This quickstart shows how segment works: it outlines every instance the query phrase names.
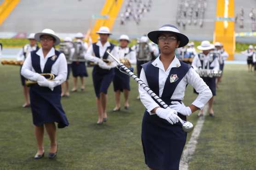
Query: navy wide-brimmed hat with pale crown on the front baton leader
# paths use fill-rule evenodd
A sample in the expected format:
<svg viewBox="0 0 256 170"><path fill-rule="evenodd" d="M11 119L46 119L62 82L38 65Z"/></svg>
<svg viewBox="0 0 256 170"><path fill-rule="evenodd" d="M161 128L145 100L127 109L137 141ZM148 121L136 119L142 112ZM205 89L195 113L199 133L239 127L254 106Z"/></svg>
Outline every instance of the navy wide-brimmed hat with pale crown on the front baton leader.
<svg viewBox="0 0 256 170"><path fill-rule="evenodd" d="M158 37L159 34L161 33L173 33L177 36L177 40L180 41L180 47L184 47L185 45L188 44L188 37L182 33L180 33L180 31L178 30L177 27L175 27L174 25L171 24L165 24L162 27L159 28L158 31L152 31L148 33L148 38L153 41L155 44L157 44L158 42Z"/></svg>

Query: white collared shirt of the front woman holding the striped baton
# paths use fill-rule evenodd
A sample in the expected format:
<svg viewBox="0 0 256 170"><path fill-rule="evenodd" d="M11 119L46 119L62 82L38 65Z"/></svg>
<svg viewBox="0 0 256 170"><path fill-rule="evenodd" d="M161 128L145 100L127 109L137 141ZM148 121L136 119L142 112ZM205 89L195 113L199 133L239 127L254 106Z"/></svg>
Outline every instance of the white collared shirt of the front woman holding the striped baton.
<svg viewBox="0 0 256 170"><path fill-rule="evenodd" d="M151 64L159 68L159 97L161 97L165 87L165 82L170 81L166 79L171 71L171 68L179 67L181 66L181 63L175 56L174 60L171 62L170 66L166 71L159 57L156 58ZM148 82L143 68L141 71L140 79L148 86ZM192 104L199 109L202 109L204 105L208 102L208 100L212 97L212 93L210 91L210 88L205 84L203 79L199 77L199 75L193 70L193 68L190 68L187 74L178 83L170 98L173 100L183 100L185 89L188 83L192 85L192 87L195 88L195 90L199 93L198 97L193 101ZM156 107L159 107L159 104L157 104L154 99L152 99L151 96L141 86L139 86L139 93L141 102L146 107L148 112Z"/></svg>

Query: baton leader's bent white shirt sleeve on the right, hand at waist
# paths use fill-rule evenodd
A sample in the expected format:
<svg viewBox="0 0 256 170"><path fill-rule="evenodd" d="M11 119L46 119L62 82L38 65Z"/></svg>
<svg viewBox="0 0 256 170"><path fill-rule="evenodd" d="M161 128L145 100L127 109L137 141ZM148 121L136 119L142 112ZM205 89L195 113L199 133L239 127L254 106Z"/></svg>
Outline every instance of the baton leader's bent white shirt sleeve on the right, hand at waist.
<svg viewBox="0 0 256 170"><path fill-rule="evenodd" d="M188 73L186 74L186 79L188 83L196 90L196 92L199 93L192 104L202 110L204 105L212 97L210 88L205 84L204 80L199 77L193 68L189 69Z"/></svg>

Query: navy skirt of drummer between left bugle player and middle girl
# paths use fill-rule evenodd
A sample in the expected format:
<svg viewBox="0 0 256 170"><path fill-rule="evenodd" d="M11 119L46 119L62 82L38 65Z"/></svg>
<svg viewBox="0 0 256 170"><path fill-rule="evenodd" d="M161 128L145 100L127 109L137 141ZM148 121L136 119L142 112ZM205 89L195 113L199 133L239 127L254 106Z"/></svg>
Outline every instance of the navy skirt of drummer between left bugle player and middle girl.
<svg viewBox="0 0 256 170"><path fill-rule="evenodd" d="M73 77L88 77L85 62L74 61L71 65Z"/></svg>

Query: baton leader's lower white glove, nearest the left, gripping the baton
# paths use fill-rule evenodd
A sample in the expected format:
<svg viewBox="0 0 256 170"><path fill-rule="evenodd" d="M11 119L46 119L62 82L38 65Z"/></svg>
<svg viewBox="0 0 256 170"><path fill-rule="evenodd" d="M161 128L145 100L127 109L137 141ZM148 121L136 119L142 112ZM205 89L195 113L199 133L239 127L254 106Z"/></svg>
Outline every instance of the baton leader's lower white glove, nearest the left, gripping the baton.
<svg viewBox="0 0 256 170"><path fill-rule="evenodd" d="M173 109L158 108L155 113L162 119L165 119L172 125L178 122L177 112Z"/></svg>

